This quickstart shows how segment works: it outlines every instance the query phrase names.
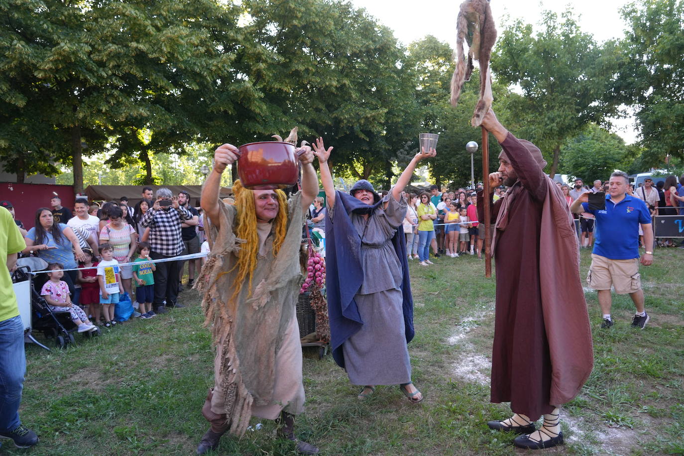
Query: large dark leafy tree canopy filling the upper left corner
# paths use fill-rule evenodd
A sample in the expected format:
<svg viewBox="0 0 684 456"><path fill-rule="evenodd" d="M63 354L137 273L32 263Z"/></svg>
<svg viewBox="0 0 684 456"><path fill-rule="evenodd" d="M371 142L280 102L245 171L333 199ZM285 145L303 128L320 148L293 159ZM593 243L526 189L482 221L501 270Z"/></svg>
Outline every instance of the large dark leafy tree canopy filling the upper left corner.
<svg viewBox="0 0 684 456"><path fill-rule="evenodd" d="M83 142L96 153L115 137L115 165L195 139L193 107L221 96L239 12L213 0L1 3L0 156L32 150L38 163L73 163L80 191ZM131 146L140 129L159 132L146 150Z"/></svg>

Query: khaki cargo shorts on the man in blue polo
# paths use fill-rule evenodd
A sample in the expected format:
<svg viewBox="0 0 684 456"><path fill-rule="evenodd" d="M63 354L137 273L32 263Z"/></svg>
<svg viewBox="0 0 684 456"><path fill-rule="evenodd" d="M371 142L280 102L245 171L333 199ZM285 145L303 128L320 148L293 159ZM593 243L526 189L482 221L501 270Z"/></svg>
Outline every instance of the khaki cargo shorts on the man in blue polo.
<svg viewBox="0 0 684 456"><path fill-rule="evenodd" d="M639 258L630 260L611 260L605 256L592 254L587 283L594 290L609 290L615 286L615 293L626 295L641 289Z"/></svg>

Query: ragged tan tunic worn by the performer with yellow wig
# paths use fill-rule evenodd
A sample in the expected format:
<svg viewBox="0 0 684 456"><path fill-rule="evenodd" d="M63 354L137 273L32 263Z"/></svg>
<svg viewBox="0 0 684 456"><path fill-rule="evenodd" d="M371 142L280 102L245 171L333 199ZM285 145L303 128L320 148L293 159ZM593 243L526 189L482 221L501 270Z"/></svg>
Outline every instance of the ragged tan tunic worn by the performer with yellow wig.
<svg viewBox="0 0 684 456"><path fill-rule="evenodd" d="M231 433L241 435L251 416L274 419L282 410L300 414L304 409L295 313L302 279L299 249L304 215L299 192L288 202L287 234L277 257L274 235L268 226L259 226L252 286L245 282L236 304L229 304L237 274L233 267L244 241L235 237L235 206L219 204L220 230L205 219L211 253L200 279L204 282L200 289L205 291L202 306L217 348L211 410L226 414Z"/></svg>

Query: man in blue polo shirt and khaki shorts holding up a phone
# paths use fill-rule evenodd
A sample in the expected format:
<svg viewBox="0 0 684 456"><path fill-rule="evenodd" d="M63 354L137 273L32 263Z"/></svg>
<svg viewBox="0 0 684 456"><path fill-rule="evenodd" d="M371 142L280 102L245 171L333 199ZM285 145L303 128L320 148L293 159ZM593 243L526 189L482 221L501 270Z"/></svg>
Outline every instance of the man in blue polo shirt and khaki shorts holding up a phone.
<svg viewBox="0 0 684 456"><path fill-rule="evenodd" d="M644 291L641 288L639 263L653 264L653 230L646 203L626 194L629 186L627 173L616 171L610 176L609 194L605 209L589 209L588 193L581 195L570 206L574 213L588 212L596 217L596 241L592 251L592 265L587 281L599 293L599 306L603 312L602 328L613 325L610 317L611 285L618 295L629 293L637 308L632 326L644 329L648 314L644 310ZM646 252L639 261L639 226L644 231Z"/></svg>

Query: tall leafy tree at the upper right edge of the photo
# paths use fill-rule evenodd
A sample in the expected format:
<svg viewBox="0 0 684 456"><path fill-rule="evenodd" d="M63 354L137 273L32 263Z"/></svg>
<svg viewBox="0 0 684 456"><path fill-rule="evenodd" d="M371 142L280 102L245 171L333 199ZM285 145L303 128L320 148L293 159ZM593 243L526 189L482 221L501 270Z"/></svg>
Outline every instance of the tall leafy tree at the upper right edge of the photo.
<svg viewBox="0 0 684 456"><path fill-rule="evenodd" d="M642 0L622 16L628 28L615 91L637 109L642 161L657 167L666 155L684 158L684 4Z"/></svg>

